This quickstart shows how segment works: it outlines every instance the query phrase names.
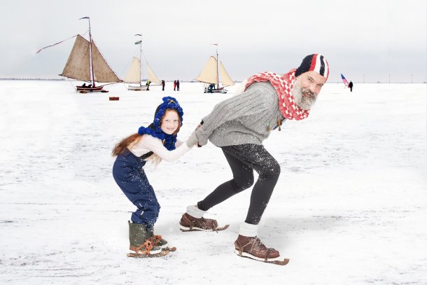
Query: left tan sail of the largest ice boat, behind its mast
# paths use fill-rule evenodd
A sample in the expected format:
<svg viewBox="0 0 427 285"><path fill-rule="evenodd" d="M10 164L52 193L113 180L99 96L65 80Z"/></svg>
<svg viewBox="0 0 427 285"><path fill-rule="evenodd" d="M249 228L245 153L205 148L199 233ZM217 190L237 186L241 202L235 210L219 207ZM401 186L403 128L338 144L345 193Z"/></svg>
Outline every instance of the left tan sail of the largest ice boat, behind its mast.
<svg viewBox="0 0 427 285"><path fill-rule="evenodd" d="M90 81L89 41L83 36L77 35L64 70L59 75L79 81Z"/></svg>

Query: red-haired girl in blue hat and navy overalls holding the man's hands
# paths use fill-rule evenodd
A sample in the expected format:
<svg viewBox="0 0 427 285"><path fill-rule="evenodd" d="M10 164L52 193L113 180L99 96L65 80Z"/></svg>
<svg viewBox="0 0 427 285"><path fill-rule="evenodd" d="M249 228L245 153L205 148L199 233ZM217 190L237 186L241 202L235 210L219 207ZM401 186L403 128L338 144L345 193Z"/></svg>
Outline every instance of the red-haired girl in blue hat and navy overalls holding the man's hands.
<svg viewBox="0 0 427 285"><path fill-rule="evenodd" d="M116 144L113 156L113 177L126 197L137 206L129 221L130 250L142 254L159 253L167 247L167 241L160 235L153 235L160 204L153 187L148 182L144 165L151 160L156 165L161 160L178 160L192 148L197 137L191 134L186 144L176 141L176 134L183 121L183 109L174 97L163 97L163 103L155 110L154 121L148 127L139 127L132 134Z"/></svg>

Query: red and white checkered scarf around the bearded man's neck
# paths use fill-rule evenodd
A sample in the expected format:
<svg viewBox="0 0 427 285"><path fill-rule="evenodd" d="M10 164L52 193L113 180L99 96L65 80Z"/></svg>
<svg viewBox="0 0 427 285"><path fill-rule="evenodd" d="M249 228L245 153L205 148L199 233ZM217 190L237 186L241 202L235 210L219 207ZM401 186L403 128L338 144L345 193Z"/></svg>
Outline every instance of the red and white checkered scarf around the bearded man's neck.
<svg viewBox="0 0 427 285"><path fill-rule="evenodd" d="M277 97L279 97L279 109L284 118L289 120L302 120L309 116L309 110L300 109L294 101L292 95L293 83L295 83L295 71L291 69L287 74L279 76L273 72L262 72L248 78L248 83L245 90L254 82L269 81L276 89Z"/></svg>

